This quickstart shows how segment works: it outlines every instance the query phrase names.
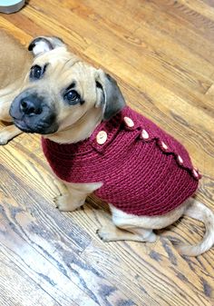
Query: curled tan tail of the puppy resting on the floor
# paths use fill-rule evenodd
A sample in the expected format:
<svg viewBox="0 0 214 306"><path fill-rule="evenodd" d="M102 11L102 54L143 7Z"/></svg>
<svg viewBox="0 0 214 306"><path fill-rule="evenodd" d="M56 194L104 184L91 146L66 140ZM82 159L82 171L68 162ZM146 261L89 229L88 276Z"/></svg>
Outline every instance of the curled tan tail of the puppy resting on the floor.
<svg viewBox="0 0 214 306"><path fill-rule="evenodd" d="M198 256L207 252L214 245L214 213L203 203L193 200L184 214L203 222L206 232L199 243L195 245L180 244L177 246L178 251L181 255L188 256Z"/></svg>

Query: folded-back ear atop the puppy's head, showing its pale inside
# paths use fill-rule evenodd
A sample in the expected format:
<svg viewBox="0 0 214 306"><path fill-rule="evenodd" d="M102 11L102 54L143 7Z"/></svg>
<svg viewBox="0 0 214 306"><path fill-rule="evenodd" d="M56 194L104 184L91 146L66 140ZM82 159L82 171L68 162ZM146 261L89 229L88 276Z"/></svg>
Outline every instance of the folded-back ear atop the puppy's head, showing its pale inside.
<svg viewBox="0 0 214 306"><path fill-rule="evenodd" d="M34 40L29 44L28 50L31 51L34 56L38 56L62 46L65 46L65 44L61 38L39 36L34 38Z"/></svg>

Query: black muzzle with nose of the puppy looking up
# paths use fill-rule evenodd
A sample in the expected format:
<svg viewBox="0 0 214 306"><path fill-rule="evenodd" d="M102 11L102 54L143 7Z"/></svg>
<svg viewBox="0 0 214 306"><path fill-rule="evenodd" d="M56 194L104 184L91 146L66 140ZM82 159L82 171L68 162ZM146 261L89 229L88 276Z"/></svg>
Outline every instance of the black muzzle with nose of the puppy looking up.
<svg viewBox="0 0 214 306"><path fill-rule="evenodd" d="M58 130L56 114L42 95L29 90L19 94L10 107L15 125L25 133L55 133Z"/></svg>

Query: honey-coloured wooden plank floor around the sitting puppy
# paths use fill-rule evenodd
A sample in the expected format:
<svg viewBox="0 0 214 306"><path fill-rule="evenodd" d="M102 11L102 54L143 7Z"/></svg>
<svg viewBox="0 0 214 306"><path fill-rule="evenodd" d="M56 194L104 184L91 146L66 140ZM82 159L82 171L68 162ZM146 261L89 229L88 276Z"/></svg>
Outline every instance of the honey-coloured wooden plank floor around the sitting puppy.
<svg viewBox="0 0 214 306"><path fill-rule="evenodd" d="M0 26L26 45L60 36L114 75L128 104L189 149L214 209L213 0L30 0ZM108 209L55 209L36 135L0 148L0 180L0 306L214 305L214 250L182 258L169 240L198 242L201 223L183 218L153 244L100 241Z"/></svg>

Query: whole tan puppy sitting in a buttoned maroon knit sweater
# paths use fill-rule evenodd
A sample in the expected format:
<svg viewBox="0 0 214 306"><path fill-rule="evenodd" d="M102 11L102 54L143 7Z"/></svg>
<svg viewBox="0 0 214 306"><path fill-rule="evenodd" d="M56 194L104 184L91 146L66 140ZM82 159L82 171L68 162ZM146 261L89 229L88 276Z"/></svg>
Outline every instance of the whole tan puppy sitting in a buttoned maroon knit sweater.
<svg viewBox="0 0 214 306"><path fill-rule="evenodd" d="M83 63L60 39L38 37L29 50L34 64L10 114L22 131L43 135L44 155L67 186L58 208L74 211L92 192L109 202L115 226L98 231L105 242L154 242L153 230L186 214L207 231L198 244L180 245L180 253L208 251L214 215L190 197L200 174L184 147L131 110L112 77Z"/></svg>

